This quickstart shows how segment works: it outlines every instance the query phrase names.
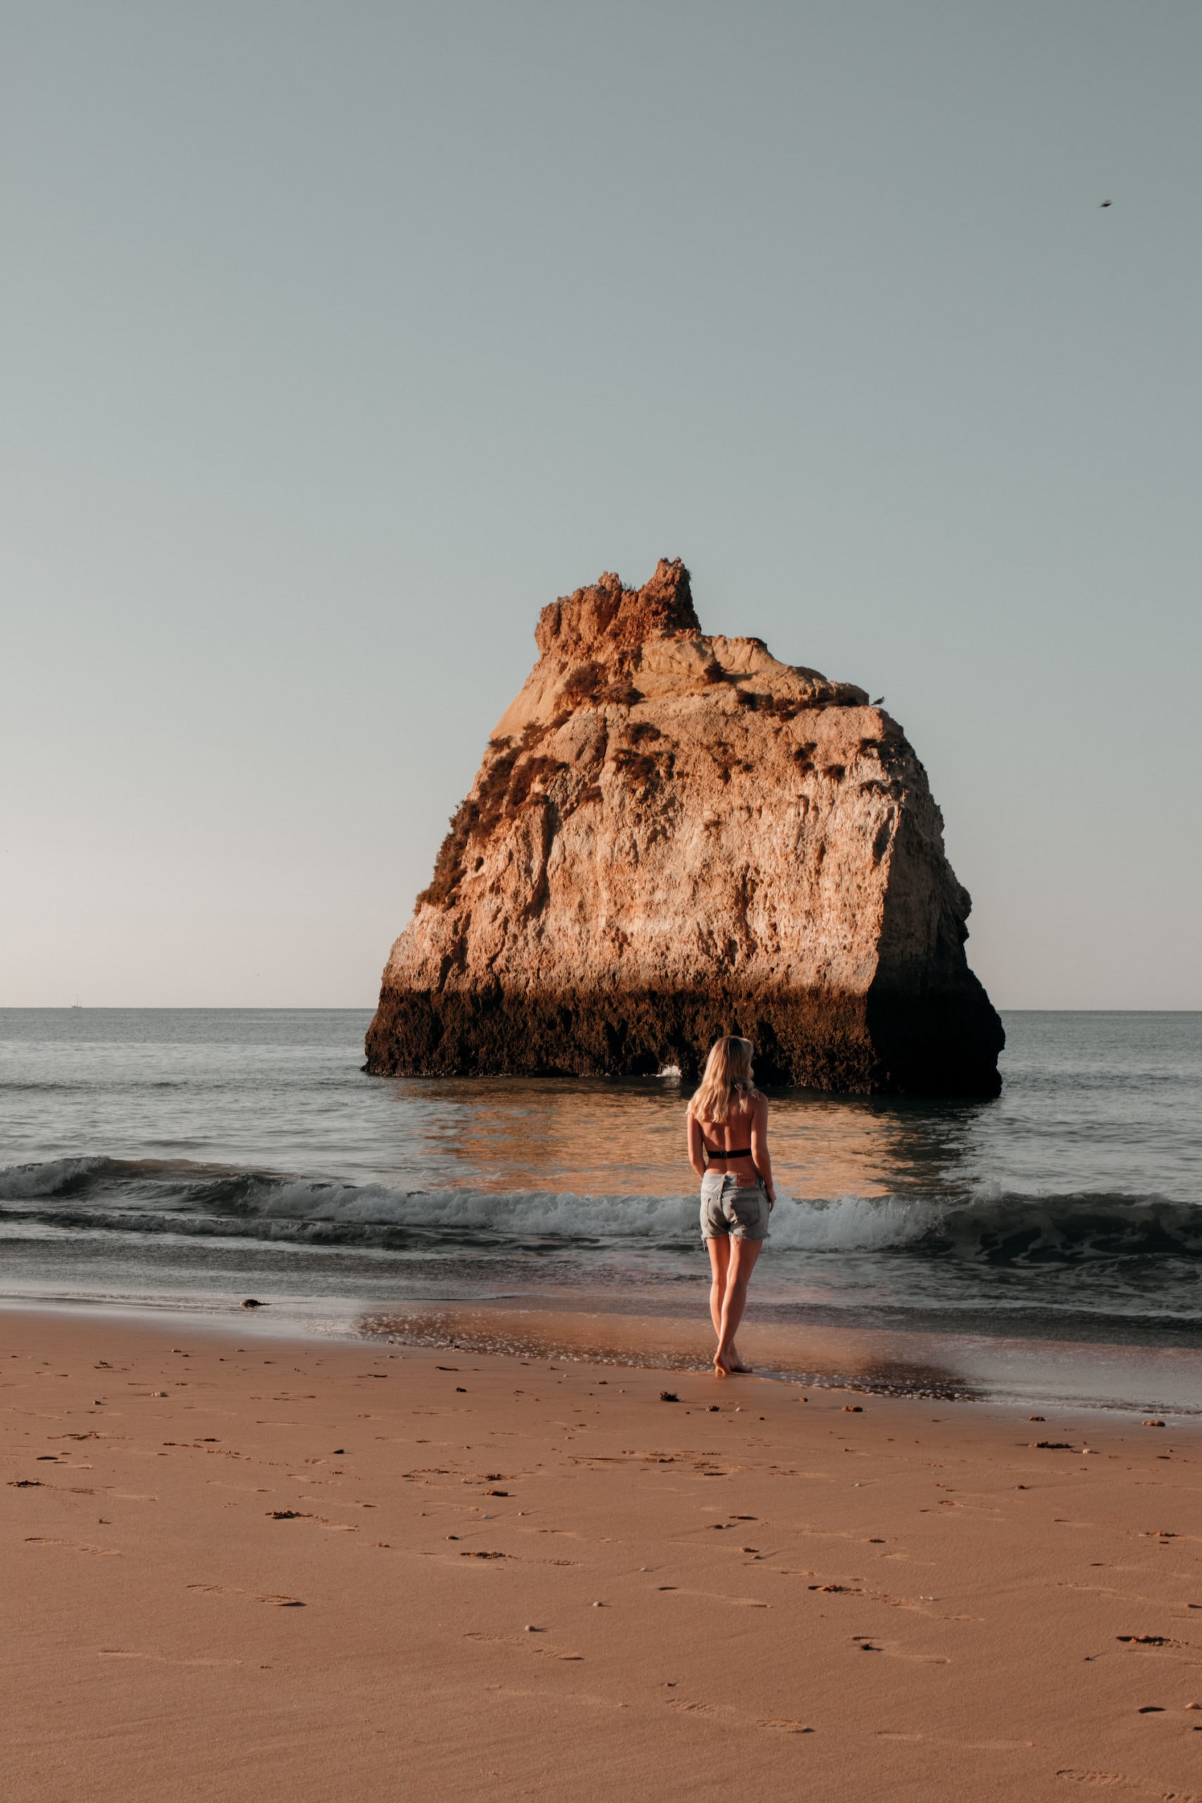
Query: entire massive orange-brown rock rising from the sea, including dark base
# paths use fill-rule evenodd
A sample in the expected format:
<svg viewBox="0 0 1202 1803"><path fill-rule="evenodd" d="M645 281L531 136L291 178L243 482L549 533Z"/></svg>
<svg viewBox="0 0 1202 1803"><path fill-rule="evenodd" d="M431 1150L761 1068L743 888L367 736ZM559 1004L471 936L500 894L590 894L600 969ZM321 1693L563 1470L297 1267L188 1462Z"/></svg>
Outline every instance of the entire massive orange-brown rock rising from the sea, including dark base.
<svg viewBox="0 0 1202 1803"><path fill-rule="evenodd" d="M995 1094L926 772L863 689L701 631L688 572L544 608L384 970L368 1069Z"/></svg>

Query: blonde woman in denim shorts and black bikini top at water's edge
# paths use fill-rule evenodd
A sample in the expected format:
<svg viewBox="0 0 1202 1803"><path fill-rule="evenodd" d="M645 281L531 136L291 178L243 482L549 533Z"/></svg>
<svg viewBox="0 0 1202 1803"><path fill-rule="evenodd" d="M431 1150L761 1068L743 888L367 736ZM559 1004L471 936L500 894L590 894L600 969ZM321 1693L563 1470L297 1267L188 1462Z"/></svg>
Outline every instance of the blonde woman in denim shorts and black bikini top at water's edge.
<svg viewBox="0 0 1202 1803"><path fill-rule="evenodd" d="M706 1163L708 1159L708 1163ZM750 1370L735 1350L748 1280L777 1206L768 1158L768 1098L751 1080L751 1040L719 1039L688 1103L688 1163L701 1177L701 1237L710 1251L714 1370Z"/></svg>

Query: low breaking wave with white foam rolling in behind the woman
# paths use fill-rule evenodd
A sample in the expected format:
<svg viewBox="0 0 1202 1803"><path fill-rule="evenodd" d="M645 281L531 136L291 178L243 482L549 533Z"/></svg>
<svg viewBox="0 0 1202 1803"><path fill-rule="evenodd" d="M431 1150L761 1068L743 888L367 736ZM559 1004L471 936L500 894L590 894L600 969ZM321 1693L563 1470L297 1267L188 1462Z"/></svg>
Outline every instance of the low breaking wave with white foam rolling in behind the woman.
<svg viewBox="0 0 1202 1803"><path fill-rule="evenodd" d="M7 1204L7 1206L4 1206ZM577 1195L555 1190L393 1190L317 1177L202 1167L182 1159L70 1158L0 1170L9 1224L59 1230L229 1235L269 1242L395 1246L696 1244L687 1195ZM1015 1192L961 1197L782 1197L779 1251L908 1253L988 1264L1202 1260L1202 1208L1161 1195Z"/></svg>

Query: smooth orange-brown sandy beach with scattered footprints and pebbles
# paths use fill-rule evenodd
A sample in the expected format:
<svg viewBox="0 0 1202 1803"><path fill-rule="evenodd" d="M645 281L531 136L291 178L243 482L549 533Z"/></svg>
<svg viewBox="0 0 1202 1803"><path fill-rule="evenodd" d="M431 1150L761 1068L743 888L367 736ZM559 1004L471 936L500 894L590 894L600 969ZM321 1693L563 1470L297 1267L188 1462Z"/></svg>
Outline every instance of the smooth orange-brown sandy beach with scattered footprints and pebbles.
<svg viewBox="0 0 1202 1803"><path fill-rule="evenodd" d="M14 1803L1202 1794L1191 1430L63 1314L0 1350Z"/></svg>

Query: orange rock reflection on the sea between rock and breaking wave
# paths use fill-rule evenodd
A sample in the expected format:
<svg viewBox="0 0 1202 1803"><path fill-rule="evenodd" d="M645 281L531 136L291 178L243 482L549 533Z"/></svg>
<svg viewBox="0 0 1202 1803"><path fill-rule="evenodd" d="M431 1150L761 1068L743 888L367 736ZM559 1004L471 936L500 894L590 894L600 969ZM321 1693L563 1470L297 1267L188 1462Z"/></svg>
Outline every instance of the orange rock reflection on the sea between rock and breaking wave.
<svg viewBox="0 0 1202 1803"><path fill-rule="evenodd" d="M463 1078L395 1085L438 1188L678 1195L696 1179L685 1154L688 1089L674 1078L508 1082ZM798 1199L946 1194L989 1103L926 1103L784 1091L771 1098L771 1156Z"/></svg>

